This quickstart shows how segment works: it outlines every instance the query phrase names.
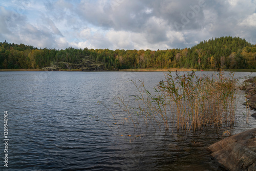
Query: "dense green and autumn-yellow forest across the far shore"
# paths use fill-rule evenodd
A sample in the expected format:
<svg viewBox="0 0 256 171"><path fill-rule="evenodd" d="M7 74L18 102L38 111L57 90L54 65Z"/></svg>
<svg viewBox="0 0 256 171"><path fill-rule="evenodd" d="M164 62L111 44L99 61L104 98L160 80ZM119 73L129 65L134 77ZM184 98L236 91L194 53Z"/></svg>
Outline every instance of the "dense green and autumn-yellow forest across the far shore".
<svg viewBox="0 0 256 171"><path fill-rule="evenodd" d="M118 70L136 68L256 69L256 45L239 37L202 41L185 49L38 49L0 42L0 69Z"/></svg>

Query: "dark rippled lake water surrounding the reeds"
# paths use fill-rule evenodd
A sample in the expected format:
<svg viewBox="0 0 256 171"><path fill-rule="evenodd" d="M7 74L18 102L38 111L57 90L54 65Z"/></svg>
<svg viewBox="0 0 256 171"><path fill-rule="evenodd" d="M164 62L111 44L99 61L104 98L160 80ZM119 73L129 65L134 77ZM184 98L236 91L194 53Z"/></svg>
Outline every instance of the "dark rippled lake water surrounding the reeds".
<svg viewBox="0 0 256 171"><path fill-rule="evenodd" d="M236 73L248 75L256 73ZM97 101L115 108L114 96L133 100L136 88L130 79L143 80L152 89L164 80L164 73L0 72L3 136L8 111L8 170L224 170L206 147L223 139L227 130L233 135L256 127L252 117L246 124L240 93L232 129L178 134L132 126L111 130L102 121L111 122L112 115ZM2 143L4 161L3 149ZM6 169L3 161L1 170Z"/></svg>

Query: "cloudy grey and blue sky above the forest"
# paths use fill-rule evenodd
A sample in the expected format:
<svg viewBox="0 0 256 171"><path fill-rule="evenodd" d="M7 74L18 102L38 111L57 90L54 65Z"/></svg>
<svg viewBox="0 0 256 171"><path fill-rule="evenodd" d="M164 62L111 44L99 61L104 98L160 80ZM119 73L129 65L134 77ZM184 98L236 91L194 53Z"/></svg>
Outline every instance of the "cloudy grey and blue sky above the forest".
<svg viewBox="0 0 256 171"><path fill-rule="evenodd" d="M0 0L0 41L37 48L189 48L222 36L256 44L256 0Z"/></svg>

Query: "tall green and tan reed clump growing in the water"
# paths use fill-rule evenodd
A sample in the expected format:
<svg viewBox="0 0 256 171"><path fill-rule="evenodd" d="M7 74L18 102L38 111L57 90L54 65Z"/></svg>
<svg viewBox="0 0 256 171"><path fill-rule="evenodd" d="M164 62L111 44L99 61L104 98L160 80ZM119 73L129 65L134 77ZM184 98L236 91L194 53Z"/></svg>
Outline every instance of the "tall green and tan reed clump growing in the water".
<svg viewBox="0 0 256 171"><path fill-rule="evenodd" d="M158 87L151 93L144 82L131 80L138 90L133 107L129 107L123 98L115 97L116 104L122 108L121 117L112 115L122 122L132 123L137 128L153 126L163 127L165 131L196 131L207 126L220 127L235 122L236 94L238 80L234 75L217 75L198 77L195 72L180 75L171 72L165 75Z"/></svg>

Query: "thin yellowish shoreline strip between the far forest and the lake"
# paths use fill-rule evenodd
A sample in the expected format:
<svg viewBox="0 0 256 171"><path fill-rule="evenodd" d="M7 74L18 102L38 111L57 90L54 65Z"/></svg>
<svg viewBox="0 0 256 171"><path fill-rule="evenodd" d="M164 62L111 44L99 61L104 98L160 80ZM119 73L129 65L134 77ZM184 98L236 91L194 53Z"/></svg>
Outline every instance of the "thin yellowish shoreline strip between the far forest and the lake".
<svg viewBox="0 0 256 171"><path fill-rule="evenodd" d="M0 69L0 72L4 71L46 71L43 69ZM82 71L81 69L60 69L57 71ZM180 69L180 68L170 68L170 69L123 69L123 70L99 70L99 71L133 71L133 72L175 72L175 71L200 71L197 69ZM202 71L217 71L217 70L202 70ZM233 71L233 72L256 72L256 70L224 70L224 71ZM84 71L90 72L90 71Z"/></svg>

